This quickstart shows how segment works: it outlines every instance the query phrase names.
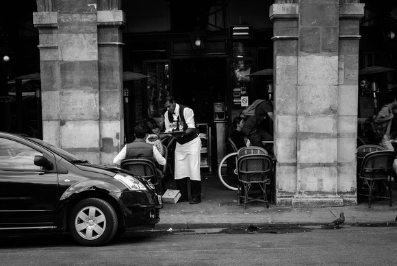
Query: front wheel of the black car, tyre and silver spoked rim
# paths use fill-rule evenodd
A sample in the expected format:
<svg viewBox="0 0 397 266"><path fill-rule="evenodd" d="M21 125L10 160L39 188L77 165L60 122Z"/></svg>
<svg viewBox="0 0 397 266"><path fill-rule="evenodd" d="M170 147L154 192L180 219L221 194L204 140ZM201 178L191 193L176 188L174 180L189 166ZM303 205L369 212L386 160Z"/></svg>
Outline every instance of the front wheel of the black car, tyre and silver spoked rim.
<svg viewBox="0 0 397 266"><path fill-rule="evenodd" d="M118 217L105 200L83 199L76 204L68 217L73 239L80 245L105 245L117 232Z"/></svg>

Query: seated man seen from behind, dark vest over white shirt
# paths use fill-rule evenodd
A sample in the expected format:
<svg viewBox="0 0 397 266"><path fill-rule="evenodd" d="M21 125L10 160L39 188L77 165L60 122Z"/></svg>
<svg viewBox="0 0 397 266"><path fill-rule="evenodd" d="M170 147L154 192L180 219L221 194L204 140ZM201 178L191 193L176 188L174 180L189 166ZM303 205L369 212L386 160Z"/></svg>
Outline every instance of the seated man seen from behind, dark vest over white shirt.
<svg viewBox="0 0 397 266"><path fill-rule="evenodd" d="M159 153L157 147L153 144L146 143L147 137L146 125L140 123L133 128L135 141L127 143L120 153L114 157L114 165L120 167L120 163L125 159L146 159L157 162L159 165L166 165L166 159ZM163 177L162 171L157 169L160 178Z"/></svg>

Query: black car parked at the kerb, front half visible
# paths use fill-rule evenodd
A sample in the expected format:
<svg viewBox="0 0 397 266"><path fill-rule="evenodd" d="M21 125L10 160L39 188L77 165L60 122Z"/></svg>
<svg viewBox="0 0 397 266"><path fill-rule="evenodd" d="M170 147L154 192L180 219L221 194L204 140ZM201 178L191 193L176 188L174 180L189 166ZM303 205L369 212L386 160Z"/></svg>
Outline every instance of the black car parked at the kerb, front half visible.
<svg viewBox="0 0 397 266"><path fill-rule="evenodd" d="M153 228L159 208L143 178L0 132L0 235L70 232L81 245L104 245L127 228Z"/></svg>

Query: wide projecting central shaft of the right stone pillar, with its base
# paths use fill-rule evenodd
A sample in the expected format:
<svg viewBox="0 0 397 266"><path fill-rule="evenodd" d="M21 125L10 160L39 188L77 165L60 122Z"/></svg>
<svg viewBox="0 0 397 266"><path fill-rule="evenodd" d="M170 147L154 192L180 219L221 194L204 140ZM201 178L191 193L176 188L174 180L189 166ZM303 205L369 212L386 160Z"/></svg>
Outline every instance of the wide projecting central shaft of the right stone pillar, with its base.
<svg viewBox="0 0 397 266"><path fill-rule="evenodd" d="M292 206L343 206L337 195L339 0L299 2L297 188Z"/></svg>

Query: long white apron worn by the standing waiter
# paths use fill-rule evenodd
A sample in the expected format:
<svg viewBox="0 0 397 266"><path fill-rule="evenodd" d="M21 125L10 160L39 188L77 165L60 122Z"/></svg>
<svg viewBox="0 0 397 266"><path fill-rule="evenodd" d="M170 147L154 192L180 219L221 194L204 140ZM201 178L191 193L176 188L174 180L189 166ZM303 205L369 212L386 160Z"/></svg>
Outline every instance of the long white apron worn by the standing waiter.
<svg viewBox="0 0 397 266"><path fill-rule="evenodd" d="M201 181L200 151L201 139L199 136L185 144L177 143L175 146L175 179L189 177L190 180Z"/></svg>

